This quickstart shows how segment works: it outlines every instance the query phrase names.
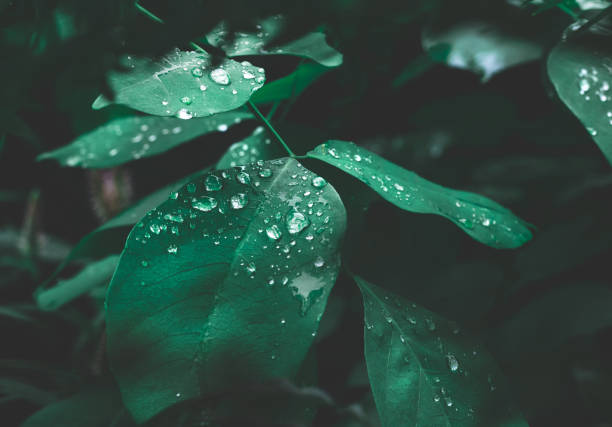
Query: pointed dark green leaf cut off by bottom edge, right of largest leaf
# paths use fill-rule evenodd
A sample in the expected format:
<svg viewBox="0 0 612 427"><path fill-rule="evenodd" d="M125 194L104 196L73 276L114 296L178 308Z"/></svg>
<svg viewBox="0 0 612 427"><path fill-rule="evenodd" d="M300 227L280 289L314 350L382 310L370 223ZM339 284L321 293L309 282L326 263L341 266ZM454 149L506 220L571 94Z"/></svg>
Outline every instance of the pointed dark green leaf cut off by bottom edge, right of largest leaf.
<svg viewBox="0 0 612 427"><path fill-rule="evenodd" d="M382 426L527 426L494 360L456 324L355 277Z"/></svg>

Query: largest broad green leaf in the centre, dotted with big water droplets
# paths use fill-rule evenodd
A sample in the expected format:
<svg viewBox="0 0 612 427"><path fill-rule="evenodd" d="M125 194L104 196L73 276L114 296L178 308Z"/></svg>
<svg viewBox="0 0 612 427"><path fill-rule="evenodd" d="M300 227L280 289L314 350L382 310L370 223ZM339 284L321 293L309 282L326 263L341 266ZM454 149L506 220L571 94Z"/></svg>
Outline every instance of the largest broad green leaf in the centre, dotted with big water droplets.
<svg viewBox="0 0 612 427"><path fill-rule="evenodd" d="M189 182L130 233L108 291L111 368L137 421L294 376L338 273L346 213L293 159Z"/></svg>

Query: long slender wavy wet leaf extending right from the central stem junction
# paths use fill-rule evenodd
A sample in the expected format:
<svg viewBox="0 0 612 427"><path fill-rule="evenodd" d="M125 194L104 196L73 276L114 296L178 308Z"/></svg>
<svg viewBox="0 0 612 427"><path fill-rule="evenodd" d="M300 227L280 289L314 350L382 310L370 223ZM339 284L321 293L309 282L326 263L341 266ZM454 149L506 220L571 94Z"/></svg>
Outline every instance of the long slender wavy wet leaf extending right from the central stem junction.
<svg viewBox="0 0 612 427"><path fill-rule="evenodd" d="M516 248L531 239L526 223L498 203L434 184L352 142L328 141L307 155L354 176L395 206L441 215L491 247Z"/></svg>

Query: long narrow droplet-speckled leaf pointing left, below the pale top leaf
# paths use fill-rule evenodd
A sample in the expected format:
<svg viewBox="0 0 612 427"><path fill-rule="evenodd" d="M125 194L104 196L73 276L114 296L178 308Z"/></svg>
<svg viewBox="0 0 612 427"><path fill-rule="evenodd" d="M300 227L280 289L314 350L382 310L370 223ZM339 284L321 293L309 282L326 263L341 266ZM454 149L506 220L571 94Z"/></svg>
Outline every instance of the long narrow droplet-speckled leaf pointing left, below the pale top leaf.
<svg viewBox="0 0 612 427"><path fill-rule="evenodd" d="M229 111L185 121L175 117L130 116L109 121L79 136L69 145L41 154L63 166L109 168L168 151L183 142L251 118L246 111Z"/></svg>

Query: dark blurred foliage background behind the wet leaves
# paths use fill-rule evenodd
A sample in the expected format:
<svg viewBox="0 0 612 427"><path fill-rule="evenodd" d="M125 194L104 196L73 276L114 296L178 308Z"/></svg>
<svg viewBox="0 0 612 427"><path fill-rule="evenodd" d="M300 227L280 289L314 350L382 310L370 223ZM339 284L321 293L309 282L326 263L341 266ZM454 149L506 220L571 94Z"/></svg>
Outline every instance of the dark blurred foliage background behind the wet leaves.
<svg viewBox="0 0 612 427"><path fill-rule="evenodd" d="M0 312L3 425L18 425L105 371L99 300L42 312L32 299L65 248L99 225L101 212L92 208L99 180L35 157L121 113L119 107L89 108L100 92L110 94L105 75L121 54L161 55L201 38L221 19L239 30L273 13L290 22L279 43L323 28L344 54L342 67L290 108L281 106L286 114L278 127L296 152L327 139L352 140L442 185L487 195L536 227L524 247L496 251L441 218L378 199L364 213L359 201L374 198L370 190L306 161L331 176L349 208L354 205L345 263L482 336L530 425L612 423L609 164L555 99L542 61L482 83L469 71L429 63L421 47L424 26L487 19L520 28L547 50L571 17L555 8L533 15L533 8L501 0L150 0L146 6L166 25L117 0L0 2L0 305L20 313ZM426 72L393 84L418 61L425 61ZM297 63L265 58L268 80ZM241 124L130 163L112 179L126 199L136 200L215 163L252 127ZM36 252L52 243L51 256ZM316 423L322 426L340 420L338 408L362 402L368 392L361 300L348 277L340 276L330 308L316 357L319 387L337 407L320 411Z"/></svg>

